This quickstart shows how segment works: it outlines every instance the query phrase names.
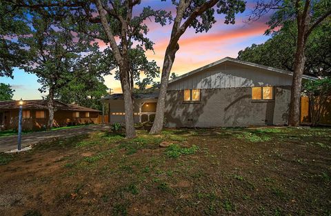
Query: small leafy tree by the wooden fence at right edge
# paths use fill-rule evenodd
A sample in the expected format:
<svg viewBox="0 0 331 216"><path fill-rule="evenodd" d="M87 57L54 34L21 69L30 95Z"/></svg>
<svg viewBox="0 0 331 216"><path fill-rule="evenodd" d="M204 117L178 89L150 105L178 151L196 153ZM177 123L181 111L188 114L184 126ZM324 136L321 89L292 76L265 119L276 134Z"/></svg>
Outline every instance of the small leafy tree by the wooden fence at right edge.
<svg viewBox="0 0 331 216"><path fill-rule="evenodd" d="M318 126L325 114L326 104L331 101L331 78L307 81L303 84L303 94L309 98L310 118L312 126Z"/></svg>

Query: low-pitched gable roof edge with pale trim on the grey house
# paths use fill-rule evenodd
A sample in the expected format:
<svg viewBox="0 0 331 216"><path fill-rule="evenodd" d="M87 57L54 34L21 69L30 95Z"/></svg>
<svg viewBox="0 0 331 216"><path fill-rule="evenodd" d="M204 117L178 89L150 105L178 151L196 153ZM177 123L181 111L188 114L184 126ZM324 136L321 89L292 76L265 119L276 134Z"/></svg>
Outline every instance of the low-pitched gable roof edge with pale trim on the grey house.
<svg viewBox="0 0 331 216"><path fill-rule="evenodd" d="M261 64L257 64L257 63L251 63L251 62L248 62L248 61L241 61L239 59L233 59L231 57L225 57L223 59L220 59L219 61L214 61L213 63L210 63L206 66L203 66L201 68L198 68L196 70L192 70L190 72L187 72L179 77L176 77L174 79L170 79L169 83L168 84L171 84L175 81L179 81L180 79L183 79L185 77L189 77L190 75L194 75L196 74L197 72L201 72L202 70L205 70L205 69L208 69L208 68L212 68L213 66L217 66L225 61L230 61L230 62L234 62L234 63L240 63L242 65L245 65L245 66L252 66L252 67L255 67L255 68L260 68L260 69L263 69L263 70L270 70L272 72L279 72L281 74L284 74L284 75L290 75L292 76L293 73L288 71L288 70L281 70L281 69L277 69L277 68L272 68L272 67L269 67L269 66L263 66ZM312 77L312 76L308 76L308 75L303 75L303 79L310 79L310 80L316 80L318 79L317 77Z"/></svg>

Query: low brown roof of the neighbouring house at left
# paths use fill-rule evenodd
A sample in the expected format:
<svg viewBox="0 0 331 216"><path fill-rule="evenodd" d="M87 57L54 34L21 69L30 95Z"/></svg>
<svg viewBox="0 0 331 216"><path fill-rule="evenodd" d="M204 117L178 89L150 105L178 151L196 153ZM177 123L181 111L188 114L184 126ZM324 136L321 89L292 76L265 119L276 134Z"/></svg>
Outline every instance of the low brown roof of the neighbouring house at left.
<svg viewBox="0 0 331 216"><path fill-rule="evenodd" d="M87 108L83 106L78 106L76 104L65 104L61 101L54 100L54 106L57 110L68 110L68 111L85 111L85 112L100 112L99 110L94 110L92 108ZM0 110L10 110L18 109L19 101L0 101ZM24 100L23 108L30 110L47 110L47 100Z"/></svg>

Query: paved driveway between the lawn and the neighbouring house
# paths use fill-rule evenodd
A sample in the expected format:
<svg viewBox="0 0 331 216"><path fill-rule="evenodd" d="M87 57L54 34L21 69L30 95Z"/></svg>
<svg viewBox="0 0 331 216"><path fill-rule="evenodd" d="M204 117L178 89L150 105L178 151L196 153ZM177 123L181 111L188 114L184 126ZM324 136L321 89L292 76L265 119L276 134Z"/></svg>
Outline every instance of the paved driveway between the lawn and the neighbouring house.
<svg viewBox="0 0 331 216"><path fill-rule="evenodd" d="M67 138L77 135L86 135L93 131L109 130L108 125L94 124L79 128L68 128L62 130L32 132L22 135L22 148L32 144L39 144L43 141L53 138ZM17 149L17 135L9 137L0 137L0 152Z"/></svg>

